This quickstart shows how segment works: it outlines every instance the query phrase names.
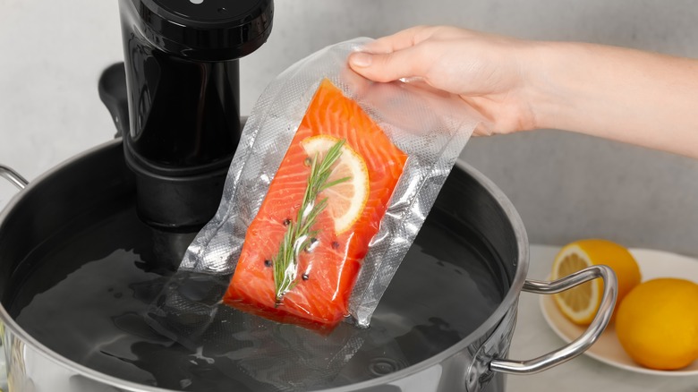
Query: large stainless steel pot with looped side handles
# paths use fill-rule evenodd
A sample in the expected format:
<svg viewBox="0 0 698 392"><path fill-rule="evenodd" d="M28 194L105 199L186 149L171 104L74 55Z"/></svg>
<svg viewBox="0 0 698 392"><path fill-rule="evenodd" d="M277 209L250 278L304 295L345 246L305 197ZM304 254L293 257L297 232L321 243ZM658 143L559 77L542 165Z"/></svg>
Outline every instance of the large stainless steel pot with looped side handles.
<svg viewBox="0 0 698 392"><path fill-rule="evenodd" d="M132 198L134 179L123 162L121 140L110 141L27 182L0 166L0 175L22 188L0 214L0 320L10 390L16 391L163 391L107 375L66 359L32 337L7 311L15 277L30 253L69 222L90 218L115 200ZM25 186L26 185L26 186ZM467 337L402 370L326 392L453 392L503 390L505 374L544 371L582 354L609 323L616 300L616 277L610 268L594 266L556 282L526 280L528 243L524 225L506 196L484 175L459 163L441 192L435 209L448 211L474 226L499 258L506 294L489 317ZM19 271L19 272L18 272ZM521 291L553 294L601 277L600 311L582 337L532 360L507 359ZM443 287L433 287L434 301ZM464 301L464 306L466 303ZM84 320L76 320L84 322Z"/></svg>

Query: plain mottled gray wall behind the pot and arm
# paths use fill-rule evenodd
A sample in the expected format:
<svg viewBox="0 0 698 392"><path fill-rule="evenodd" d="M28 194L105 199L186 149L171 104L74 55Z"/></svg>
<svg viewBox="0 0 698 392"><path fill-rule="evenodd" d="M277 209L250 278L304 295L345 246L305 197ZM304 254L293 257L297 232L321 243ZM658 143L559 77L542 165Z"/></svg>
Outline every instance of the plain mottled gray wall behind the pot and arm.
<svg viewBox="0 0 698 392"><path fill-rule="evenodd" d="M96 83L122 58L118 10L115 0L0 6L0 162L33 179L112 136ZM277 0L271 38L242 61L242 109L320 47L414 24L698 56L696 21L693 1ZM557 131L472 140L462 158L509 196L533 243L601 236L698 256L698 161ZM13 193L0 184L0 206Z"/></svg>

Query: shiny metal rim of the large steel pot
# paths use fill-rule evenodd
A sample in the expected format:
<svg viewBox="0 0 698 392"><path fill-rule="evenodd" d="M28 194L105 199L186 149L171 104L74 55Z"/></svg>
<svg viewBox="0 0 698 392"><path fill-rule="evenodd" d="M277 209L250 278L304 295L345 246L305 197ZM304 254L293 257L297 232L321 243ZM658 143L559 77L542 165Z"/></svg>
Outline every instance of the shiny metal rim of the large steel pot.
<svg viewBox="0 0 698 392"><path fill-rule="evenodd" d="M31 181L24 190L15 194L13 198L4 207L4 209L0 210L0 226L2 226L9 212L13 210L14 206L16 206L19 203L23 195L27 192L30 192L34 187L38 186L37 184L42 183L45 178L54 175L55 173L63 170L68 166L77 164L83 158L86 158L92 154L97 154L102 149L117 148L117 146L121 145L121 138L115 139L113 141L107 141L106 143L100 144L92 149L88 149L72 158L68 158L64 162L49 169L44 174L39 175L34 181ZM511 222L514 228L514 234L517 245L517 266L514 279L511 285L509 286L509 290L506 293L504 299L501 303L499 303L497 309L489 315L487 320L482 322L480 327L476 328L474 331L472 331L470 335L464 337L460 342L450 346L446 350L438 354L432 355L430 356L430 358L424 361L414 363L413 365L401 369L400 371L395 371L393 373L381 376L376 379L368 379L365 381L357 382L342 387L322 389L318 390L318 392L348 392L361 388L376 387L379 385L394 382L398 379L404 379L413 374L430 369L434 365L438 365L438 363L443 362L447 358L460 353L469 345L472 345L473 342L475 342L480 337L484 336L489 329L496 327L498 322L504 319L506 312L512 309L513 306L515 306L519 294L521 293L524 287L524 281L526 279L529 267L529 243L524 223L521 220L521 217L519 216L518 212L514 208L512 202L508 200L508 198L506 198L504 192L502 192L495 183L489 180L489 178L487 178L485 175L482 175L481 172L479 172L474 167L465 163L464 160L462 160L461 158L459 158L455 162L455 166L458 166L459 168L463 169L467 174L472 175L491 195L495 197L495 199L498 201L498 204L502 207L506 214L506 217L509 218L509 221ZM21 328L20 325L17 324L17 322L13 320L12 317L10 317L9 313L4 309L4 305L2 304L0 304L0 322L4 324L5 327L3 337L4 340L6 340L5 337L7 337L7 332L12 331L14 336L19 337L21 341L23 341L26 345L32 346L34 350L38 352L38 354L42 354L48 360L55 362L55 364L63 367L68 371L73 371L77 374L81 374L85 377L88 377L89 379L93 379L116 388L125 388L132 392L174 392L173 389L149 387L125 379L118 379L114 376L110 376L100 371L95 371L91 368L88 368L87 366L81 365L80 363L73 362L72 360L64 358L62 355L55 353L55 351L49 349L46 345L43 345L42 343L38 342L37 339L30 336L29 333L27 333L23 328ZM464 369L463 371L465 373L467 369Z"/></svg>

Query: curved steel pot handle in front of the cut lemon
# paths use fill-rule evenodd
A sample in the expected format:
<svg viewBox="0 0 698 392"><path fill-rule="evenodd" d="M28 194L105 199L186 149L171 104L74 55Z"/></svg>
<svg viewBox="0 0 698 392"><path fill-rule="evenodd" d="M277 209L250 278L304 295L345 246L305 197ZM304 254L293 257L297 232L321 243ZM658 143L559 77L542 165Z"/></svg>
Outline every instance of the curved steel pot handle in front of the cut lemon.
<svg viewBox="0 0 698 392"><path fill-rule="evenodd" d="M591 347L600 337L606 326L609 325L609 320L613 314L613 307L617 297L617 279L613 269L604 265L591 266L553 282L526 280L523 288L524 291L529 293L556 294L597 277L602 278L604 283L599 311L597 311L592 323L589 325L589 328L584 331L582 336L577 337L574 341L556 351L541 355L532 360L516 361L494 359L489 362L489 370L508 374L537 373L560 363L567 362Z"/></svg>

